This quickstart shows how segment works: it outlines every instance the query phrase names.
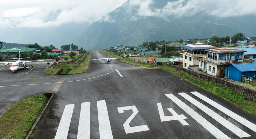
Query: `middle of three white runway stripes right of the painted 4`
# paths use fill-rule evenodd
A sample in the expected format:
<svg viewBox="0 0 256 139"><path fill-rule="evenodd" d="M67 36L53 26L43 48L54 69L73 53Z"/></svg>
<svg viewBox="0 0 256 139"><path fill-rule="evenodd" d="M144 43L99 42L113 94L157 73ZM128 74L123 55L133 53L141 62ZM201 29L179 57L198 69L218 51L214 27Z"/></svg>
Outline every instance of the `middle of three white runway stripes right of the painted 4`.
<svg viewBox="0 0 256 139"><path fill-rule="evenodd" d="M182 97L184 97L186 100L188 100L192 104L194 104L195 106L197 106L198 108L200 108L200 110L202 110L203 112L205 112L206 114L211 116L213 119L215 119L217 122L222 124L224 127L228 128L228 130L230 130L231 132L233 132L234 134L236 134L240 138L251 137L251 135L247 134L246 132L244 132L243 130L241 130L240 128L235 126L234 124L230 123L228 120L226 120L222 116L218 115L217 113L212 111L210 108L208 108L207 106L198 102L197 100L190 97L186 93L178 93L178 94L181 95Z"/></svg>

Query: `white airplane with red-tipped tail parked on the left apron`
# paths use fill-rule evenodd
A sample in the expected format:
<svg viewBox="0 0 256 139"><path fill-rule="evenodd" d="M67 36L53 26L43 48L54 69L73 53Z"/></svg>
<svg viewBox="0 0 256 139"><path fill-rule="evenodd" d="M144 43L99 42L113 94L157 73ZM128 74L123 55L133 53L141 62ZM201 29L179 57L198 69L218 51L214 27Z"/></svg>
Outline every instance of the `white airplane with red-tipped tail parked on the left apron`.
<svg viewBox="0 0 256 139"><path fill-rule="evenodd" d="M26 57L29 58L29 57ZM22 68L24 69L25 67L22 67L22 65L26 64L26 62L36 62L36 61L48 61L48 60L33 60L33 61L20 61L20 59L25 59L25 58L20 58L20 51L19 51L19 58L9 58L9 59L18 59L15 62L0 62L0 63L5 63L5 66L8 66L10 63L12 63L10 67L10 71L15 72L18 69Z"/></svg>

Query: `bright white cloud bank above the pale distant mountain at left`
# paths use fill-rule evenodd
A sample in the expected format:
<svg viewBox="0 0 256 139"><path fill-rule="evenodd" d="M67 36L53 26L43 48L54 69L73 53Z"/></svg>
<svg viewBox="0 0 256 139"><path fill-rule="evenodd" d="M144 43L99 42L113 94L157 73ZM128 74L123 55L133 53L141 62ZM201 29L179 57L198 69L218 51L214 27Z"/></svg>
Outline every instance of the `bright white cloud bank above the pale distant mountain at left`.
<svg viewBox="0 0 256 139"><path fill-rule="evenodd" d="M45 27L62 23L110 21L106 14L126 0L24 0L1 3L0 27ZM8 8L7 8L8 7Z"/></svg>

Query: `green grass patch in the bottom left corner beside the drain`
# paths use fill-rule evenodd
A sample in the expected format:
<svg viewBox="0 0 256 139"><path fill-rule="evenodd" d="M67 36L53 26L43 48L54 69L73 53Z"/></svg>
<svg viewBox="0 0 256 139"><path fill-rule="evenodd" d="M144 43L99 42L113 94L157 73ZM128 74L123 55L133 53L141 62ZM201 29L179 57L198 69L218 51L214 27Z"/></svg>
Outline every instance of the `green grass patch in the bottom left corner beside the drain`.
<svg viewBox="0 0 256 139"><path fill-rule="evenodd" d="M44 95L36 95L17 102L0 119L0 138L24 139L47 101Z"/></svg>

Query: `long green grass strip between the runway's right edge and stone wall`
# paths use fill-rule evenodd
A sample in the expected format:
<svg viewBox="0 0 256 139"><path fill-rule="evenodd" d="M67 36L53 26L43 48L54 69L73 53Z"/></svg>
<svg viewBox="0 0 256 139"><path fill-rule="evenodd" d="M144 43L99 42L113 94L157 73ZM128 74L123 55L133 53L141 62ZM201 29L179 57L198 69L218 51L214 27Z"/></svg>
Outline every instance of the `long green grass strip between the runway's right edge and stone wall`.
<svg viewBox="0 0 256 139"><path fill-rule="evenodd" d="M234 105L237 105L243 110L247 111L248 113L252 113L256 115L256 102L252 100L247 100L247 98L242 94L237 94L231 90L231 88L227 86L221 86L218 85L215 82L209 82L209 81L200 81L198 79L193 78L192 75L189 75L186 72L178 71L176 68L168 67L166 65L161 66L161 69L168 71L170 73L173 73L209 92L212 94L221 97L229 102L231 102Z"/></svg>

